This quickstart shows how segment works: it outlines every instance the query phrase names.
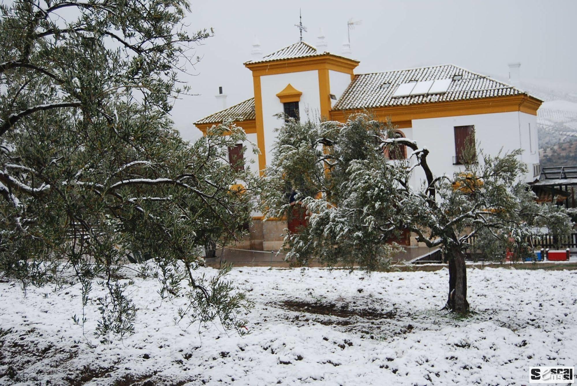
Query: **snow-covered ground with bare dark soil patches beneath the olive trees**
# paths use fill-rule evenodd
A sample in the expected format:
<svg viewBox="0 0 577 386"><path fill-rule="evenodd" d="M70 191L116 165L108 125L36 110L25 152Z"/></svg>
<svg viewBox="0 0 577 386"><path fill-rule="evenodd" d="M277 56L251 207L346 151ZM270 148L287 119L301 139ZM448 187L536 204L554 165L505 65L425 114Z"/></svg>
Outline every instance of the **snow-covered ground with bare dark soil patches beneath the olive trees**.
<svg viewBox="0 0 577 386"><path fill-rule="evenodd" d="M2 282L0 384L511 385L529 384L529 366L577 364L577 271L468 274L476 313L458 318L440 311L446 268L235 268L256 302L243 337L184 330L173 321L179 299L161 303L153 279L134 278L136 334L96 348L72 322L78 288L24 297ZM88 318L85 336L98 343L95 308Z"/></svg>

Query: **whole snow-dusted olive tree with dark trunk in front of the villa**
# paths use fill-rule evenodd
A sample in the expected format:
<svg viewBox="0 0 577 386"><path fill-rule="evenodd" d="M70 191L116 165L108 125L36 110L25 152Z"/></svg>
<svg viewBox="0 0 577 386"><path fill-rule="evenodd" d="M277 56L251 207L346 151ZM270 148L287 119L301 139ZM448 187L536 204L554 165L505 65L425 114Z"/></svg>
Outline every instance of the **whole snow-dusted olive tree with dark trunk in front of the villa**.
<svg viewBox="0 0 577 386"><path fill-rule="evenodd" d="M531 234L546 228L560 236L573 225L563 207L536 203L521 181L526 166L520 150L491 156L469 144L460 171L436 176L427 163L429 149L364 114L346 123L291 121L278 138L267 170L276 192L265 197L269 216L290 216L294 191L309 222L287 233L288 258L377 269L398 251L391 240L408 229L418 242L443 249L446 307L452 310L469 309L464 256L474 237L524 257L533 250ZM402 145L410 149L409 159L385 157Z"/></svg>

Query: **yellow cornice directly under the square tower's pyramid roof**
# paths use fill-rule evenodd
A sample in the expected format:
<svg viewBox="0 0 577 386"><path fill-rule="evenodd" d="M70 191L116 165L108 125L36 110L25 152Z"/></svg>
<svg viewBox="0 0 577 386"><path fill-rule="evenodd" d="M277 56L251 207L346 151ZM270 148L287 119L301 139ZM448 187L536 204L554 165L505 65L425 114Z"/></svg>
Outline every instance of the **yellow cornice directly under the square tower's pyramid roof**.
<svg viewBox="0 0 577 386"><path fill-rule="evenodd" d="M358 65L358 61L327 54L316 57L283 59L272 62L246 63L245 67L253 72L253 76L286 74L320 69L333 70L352 75L353 70Z"/></svg>

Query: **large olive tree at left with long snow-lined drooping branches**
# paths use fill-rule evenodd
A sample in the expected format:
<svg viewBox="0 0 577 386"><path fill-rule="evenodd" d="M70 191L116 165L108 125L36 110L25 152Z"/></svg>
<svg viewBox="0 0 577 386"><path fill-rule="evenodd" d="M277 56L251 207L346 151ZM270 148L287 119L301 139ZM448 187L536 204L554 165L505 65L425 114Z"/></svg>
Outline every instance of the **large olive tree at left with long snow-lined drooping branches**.
<svg viewBox="0 0 577 386"><path fill-rule="evenodd" d="M199 245L241 234L259 182L227 163L242 129L219 126L191 145L173 128L172 101L188 91L178 75L211 35L186 32L186 10L179 0L0 7L0 271L25 286L78 283L84 305L101 280L105 338L133 328L119 282L127 258L150 260L161 297L188 298L180 318L238 329L250 306L230 268L195 272ZM244 194L231 190L241 180Z"/></svg>

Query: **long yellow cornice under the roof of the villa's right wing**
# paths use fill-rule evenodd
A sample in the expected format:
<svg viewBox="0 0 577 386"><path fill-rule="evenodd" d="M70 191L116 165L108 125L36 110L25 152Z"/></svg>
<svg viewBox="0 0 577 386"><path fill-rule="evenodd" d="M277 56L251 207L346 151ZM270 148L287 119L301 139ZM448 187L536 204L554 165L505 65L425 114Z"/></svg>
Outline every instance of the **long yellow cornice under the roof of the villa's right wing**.
<svg viewBox="0 0 577 386"><path fill-rule="evenodd" d="M521 111L522 113L537 115L541 100L528 95L497 96L473 100L458 100L455 102L434 102L411 104L409 106L377 107L366 110L333 110L331 119L345 122L351 114L369 111L375 118L391 121L411 121L412 119L456 117L459 115L475 115L490 113L507 113ZM402 128L402 126L399 126Z"/></svg>

